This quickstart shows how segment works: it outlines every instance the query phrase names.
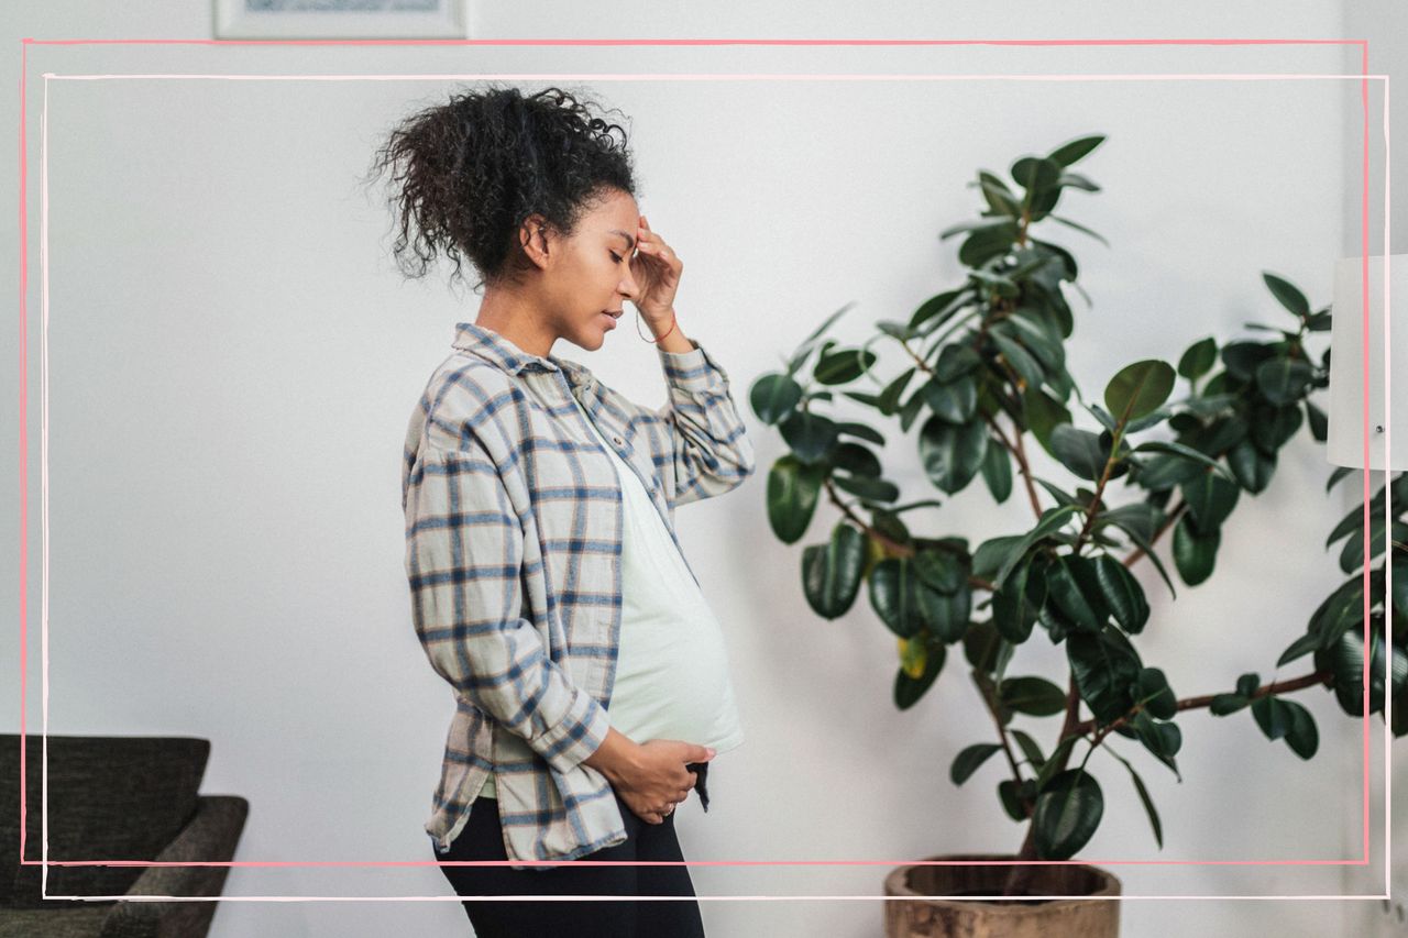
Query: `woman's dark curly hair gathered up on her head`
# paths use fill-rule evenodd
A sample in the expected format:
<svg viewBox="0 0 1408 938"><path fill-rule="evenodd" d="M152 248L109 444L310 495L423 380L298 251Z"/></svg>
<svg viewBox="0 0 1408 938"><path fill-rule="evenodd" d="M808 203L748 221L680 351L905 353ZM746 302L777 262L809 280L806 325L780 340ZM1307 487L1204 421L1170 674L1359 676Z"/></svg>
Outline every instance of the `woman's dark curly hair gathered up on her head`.
<svg viewBox="0 0 1408 938"><path fill-rule="evenodd" d="M397 186L387 207L400 215L394 255L401 273L425 276L444 251L455 262L452 282L463 280L465 258L482 275L474 290L517 282L527 263L518 244L525 218L541 214L572 237L611 190L635 196L625 130L593 117L589 104L584 93L559 87L524 97L515 87L490 86L452 93L449 103L404 118L366 180L390 170Z"/></svg>

